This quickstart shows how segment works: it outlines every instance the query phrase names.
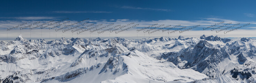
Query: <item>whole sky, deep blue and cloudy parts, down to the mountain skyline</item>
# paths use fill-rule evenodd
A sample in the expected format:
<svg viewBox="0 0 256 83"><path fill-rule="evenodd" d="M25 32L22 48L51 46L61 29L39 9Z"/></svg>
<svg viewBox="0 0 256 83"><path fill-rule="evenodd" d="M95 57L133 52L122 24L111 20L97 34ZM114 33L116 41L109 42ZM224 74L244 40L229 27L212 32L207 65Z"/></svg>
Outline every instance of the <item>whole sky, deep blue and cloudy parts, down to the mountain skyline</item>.
<svg viewBox="0 0 256 83"><path fill-rule="evenodd" d="M1 38L9 40L10 37L15 39L17 35L20 34L27 38L39 38L40 36L40 38L49 39L54 37L56 39L57 37L74 37L75 35L77 37L88 38L110 36L135 38L137 35L145 38L162 36L178 37L180 35L185 37L200 37L203 34L218 35L221 37L256 37L255 4L256 1L253 0L1 0L0 40ZM59 21L64 18L69 18L69 21L72 21L72 23L89 18L90 24L93 23L95 26L96 24L104 24L104 26L106 26L110 22L115 25L126 25L131 22L136 22L136 24L140 24L140 26L124 31L118 35L115 33L101 35L97 33L90 34L89 31L77 35L71 33L71 31L62 33L63 30L56 31L55 29L48 30L45 28L42 29L44 35L41 37L42 33L40 32L42 30L38 27L33 30L29 28L20 30L21 27L28 26L37 21L41 21L41 23L38 24L41 25L50 20ZM251 25L239 28L228 34L223 33L224 31L217 33L211 31L211 29L203 30L203 28L221 21L225 21L224 24L232 22L232 25L240 23L239 26L229 28L225 31L232 30L247 23ZM25 22L28 22L28 24L8 31L8 28L15 27ZM165 24L165 26L181 25L181 27L187 26L187 28L196 25L201 26L191 29L186 33L175 33L171 35L167 32L162 33L158 31L152 35L146 34L145 36L145 33L137 33L136 31L136 29L156 23L159 25ZM56 25L49 26L48 28L53 26ZM63 28L64 26L65 25L57 27L56 29ZM77 25L70 26L69 28L75 26ZM228 26L222 27L221 29L226 27ZM8 33L9 35L7 36Z"/></svg>

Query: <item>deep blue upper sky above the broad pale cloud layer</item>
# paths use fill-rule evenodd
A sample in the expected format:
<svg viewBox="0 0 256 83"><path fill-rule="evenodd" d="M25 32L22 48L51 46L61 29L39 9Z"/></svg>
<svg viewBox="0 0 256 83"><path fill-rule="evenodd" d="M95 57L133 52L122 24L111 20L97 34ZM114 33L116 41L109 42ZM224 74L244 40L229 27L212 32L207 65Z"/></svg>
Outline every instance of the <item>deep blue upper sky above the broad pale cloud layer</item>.
<svg viewBox="0 0 256 83"><path fill-rule="evenodd" d="M84 18L92 20L198 20L201 18L222 18L236 21L255 21L255 4L256 1L253 0L1 0L0 20L17 20L15 17L69 17L70 20ZM63 13L63 11L69 13ZM76 13L74 13L75 11Z"/></svg>

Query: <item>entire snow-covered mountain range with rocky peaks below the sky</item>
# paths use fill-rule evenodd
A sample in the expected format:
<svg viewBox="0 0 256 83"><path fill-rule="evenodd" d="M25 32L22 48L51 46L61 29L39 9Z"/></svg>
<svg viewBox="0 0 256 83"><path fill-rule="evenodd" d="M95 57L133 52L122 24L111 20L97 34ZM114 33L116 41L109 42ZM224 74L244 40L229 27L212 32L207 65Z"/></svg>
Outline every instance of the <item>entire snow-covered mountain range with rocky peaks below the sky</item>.
<svg viewBox="0 0 256 83"><path fill-rule="evenodd" d="M256 83L256 39L0 41L0 83Z"/></svg>

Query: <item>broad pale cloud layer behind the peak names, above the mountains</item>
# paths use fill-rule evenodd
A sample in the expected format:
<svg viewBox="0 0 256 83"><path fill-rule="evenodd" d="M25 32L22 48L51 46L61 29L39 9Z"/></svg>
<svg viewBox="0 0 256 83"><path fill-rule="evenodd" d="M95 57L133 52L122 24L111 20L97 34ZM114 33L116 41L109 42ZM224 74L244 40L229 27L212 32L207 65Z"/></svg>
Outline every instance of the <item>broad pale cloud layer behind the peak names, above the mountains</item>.
<svg viewBox="0 0 256 83"><path fill-rule="evenodd" d="M47 34L47 35L43 36L43 38L49 38L49 35L51 35L51 38L52 37L57 37L57 36L58 36L58 38L63 37L62 35L64 35L65 37L73 37L73 35L75 37L75 35L76 35L76 37L88 37L88 38L89 37L110 37L110 36L111 37L117 37L117 36L118 37L127 37L127 38L128 37L130 37L130 38L161 37L161 36L168 36L168 37L176 36L176 37L178 37L179 35L187 36L187 37L200 37L202 34L218 35L218 36L222 36L222 37L255 37L255 31L256 31L256 28L255 28L256 22L243 22L243 21L234 21L234 20L219 19L219 18L204 18L203 20L151 20L151 21L130 20L130 19L111 19L111 20L101 19L101 20L87 20L86 22L89 22L89 24L94 24L94 25L103 24L102 26L107 26L109 24L127 25L128 23L134 22L135 24L139 24L139 26L131 28L131 29L126 30L126 31L123 31L120 34L115 34L115 32L111 33L110 31L106 30L106 29L111 28L111 27L107 27L107 28L104 28L102 30L99 30L99 31L106 30L106 32L102 33L102 34L98 34L97 32L90 33L89 31L86 31L86 32L81 33L81 34L77 34L77 32L72 33L71 30L63 33L62 30L64 30L64 29L60 29L60 28L65 27L66 25L74 24L74 23L77 22L75 20L69 20L69 21L70 22L68 22L67 24L55 27L51 30L49 30L48 27L49 28L54 27L55 25L48 26L47 28L44 28L44 29L41 29L41 28L37 27L37 28L32 29L32 30L30 30L30 28L25 28L23 30L20 30L20 28L16 28L16 29L9 30L9 31L7 31L7 28L12 28L14 26L17 26L17 25L25 23L25 22L28 23L28 24L31 24L31 23L36 22L36 21L28 21L28 20L27 21L18 21L18 20L16 20L16 21L13 21L13 20L0 21L0 38L6 38L6 34L8 34L8 33L12 33L12 34L8 34L8 37L12 37L14 39L20 33L22 33L22 35L24 35L24 37L28 38L28 37L30 37L30 32L31 32L31 34L33 34L31 37L38 38L38 37L41 37L41 33L38 33L38 32L41 32L41 30L43 30L42 34ZM249 25L248 27L239 28L238 30L232 31L231 33L228 33L228 34L224 34L224 31L222 31L220 33L216 33L214 31L211 31L211 29L207 29L207 30L202 29L203 27L208 27L208 26L214 25L215 23L218 23L220 21L225 21L225 23L232 22L232 25L236 24L236 23L240 23L239 26L242 26L243 24L246 24L246 23L250 23L251 25ZM40 21L39 25L44 24L46 22L48 22L48 21ZM54 22L57 22L57 21L54 21ZM77 25L81 25L81 24L77 24ZM89 25L89 24L87 24L87 25ZM169 30L165 31L165 32L162 32L160 30L160 31L157 31L156 33L153 33L153 34L144 33L144 31L139 31L139 32L137 31L138 29L148 27L149 25L152 25L152 24L158 24L158 25L163 25L164 24L165 26L181 25L182 27L186 26L187 29L191 28L195 25L201 25L201 26L198 27L198 28L195 28L193 30L189 30L186 33L181 33L181 34L179 33L179 31L177 33L168 34L167 32ZM77 25L73 25L73 26L70 26L70 27L75 27ZM25 26L27 26L27 25L25 25ZM86 25L84 25L84 26L86 26ZM232 28L236 28L236 27L239 27L239 26L235 26L235 27L232 27ZM81 27L83 27L83 26L80 26L79 28L81 28ZM79 29L79 28L77 28L77 29ZM181 27L178 27L178 28L181 28ZM171 29L170 31L177 30L178 28ZM223 27L223 28L226 28L226 27ZM56 29L60 29L60 30L55 31ZM75 29L73 29L73 30L75 30ZM92 29L92 30L95 30L95 29ZM231 28L228 29L228 30L231 30ZM51 34L49 34L49 31L51 31Z"/></svg>

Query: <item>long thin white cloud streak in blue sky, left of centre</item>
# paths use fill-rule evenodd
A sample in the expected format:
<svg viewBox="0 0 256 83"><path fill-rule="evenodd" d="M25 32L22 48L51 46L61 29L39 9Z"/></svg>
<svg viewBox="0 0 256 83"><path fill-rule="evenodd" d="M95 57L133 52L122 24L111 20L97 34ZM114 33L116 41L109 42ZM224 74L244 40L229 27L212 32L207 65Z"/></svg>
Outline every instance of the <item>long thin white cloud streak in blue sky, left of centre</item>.
<svg viewBox="0 0 256 83"><path fill-rule="evenodd" d="M53 13L112 13L111 11L53 11Z"/></svg>

